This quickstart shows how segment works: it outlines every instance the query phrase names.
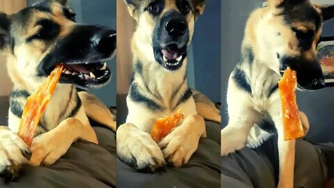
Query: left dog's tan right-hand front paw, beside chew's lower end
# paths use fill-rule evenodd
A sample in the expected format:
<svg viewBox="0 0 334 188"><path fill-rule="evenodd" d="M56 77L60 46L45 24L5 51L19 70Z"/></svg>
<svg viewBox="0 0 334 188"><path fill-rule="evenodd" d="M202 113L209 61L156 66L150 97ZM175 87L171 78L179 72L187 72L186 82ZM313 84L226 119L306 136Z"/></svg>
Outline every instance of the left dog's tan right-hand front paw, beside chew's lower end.
<svg viewBox="0 0 334 188"><path fill-rule="evenodd" d="M65 134L51 134L46 132L33 139L31 143L32 155L29 160L31 166L50 166L67 152L72 140L63 138Z"/></svg>

